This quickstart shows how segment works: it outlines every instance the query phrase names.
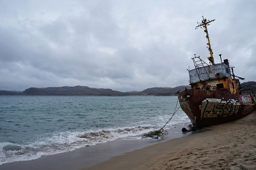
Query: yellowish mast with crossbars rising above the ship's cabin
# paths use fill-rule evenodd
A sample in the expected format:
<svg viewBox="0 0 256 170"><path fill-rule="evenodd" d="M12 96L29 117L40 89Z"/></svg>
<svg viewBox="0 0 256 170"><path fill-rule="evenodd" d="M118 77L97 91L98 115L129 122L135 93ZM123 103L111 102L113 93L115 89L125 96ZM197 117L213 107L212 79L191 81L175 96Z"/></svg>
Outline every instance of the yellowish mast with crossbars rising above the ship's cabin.
<svg viewBox="0 0 256 170"><path fill-rule="evenodd" d="M203 16L202 16L202 18L203 18ZM210 23L214 20L206 20L206 18L203 18L202 23L197 23L198 26L195 27L195 28L198 28L198 27L202 28L202 26L203 26L203 28L204 28L204 31L206 33L208 50L209 50L209 53L210 53L210 57L208 57L208 60L211 61L211 64L213 64L213 65L215 64L214 63L214 55L213 55L214 53L211 50L211 43L210 43L210 38L209 38L207 26L210 25Z"/></svg>

